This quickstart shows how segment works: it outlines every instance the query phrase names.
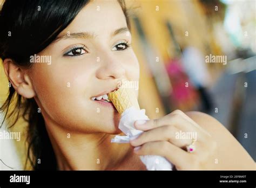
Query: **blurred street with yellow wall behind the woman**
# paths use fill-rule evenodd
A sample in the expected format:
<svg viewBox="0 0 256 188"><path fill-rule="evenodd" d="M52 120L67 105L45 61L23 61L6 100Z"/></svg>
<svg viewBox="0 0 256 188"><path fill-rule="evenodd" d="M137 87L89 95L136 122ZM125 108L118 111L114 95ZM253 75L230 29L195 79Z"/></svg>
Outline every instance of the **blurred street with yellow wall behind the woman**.
<svg viewBox="0 0 256 188"><path fill-rule="evenodd" d="M140 63L139 103L150 119L175 109L210 114L255 161L256 2L126 0L126 4ZM8 91L2 65L0 78L1 104ZM12 131L24 133L25 123L18 123ZM24 147L24 140L15 145ZM0 152L0 159L2 154L8 160L1 144ZM25 150L17 152L26 156ZM5 168L0 161L1 167Z"/></svg>

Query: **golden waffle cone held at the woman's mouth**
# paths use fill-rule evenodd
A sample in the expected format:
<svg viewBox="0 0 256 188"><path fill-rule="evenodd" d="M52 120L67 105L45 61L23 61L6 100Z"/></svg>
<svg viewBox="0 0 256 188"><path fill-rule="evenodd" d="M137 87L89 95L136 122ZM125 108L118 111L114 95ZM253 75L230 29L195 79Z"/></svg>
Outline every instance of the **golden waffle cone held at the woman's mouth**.
<svg viewBox="0 0 256 188"><path fill-rule="evenodd" d="M122 114L127 108L132 106L140 109L136 93L133 89L121 87L107 95L119 114Z"/></svg>

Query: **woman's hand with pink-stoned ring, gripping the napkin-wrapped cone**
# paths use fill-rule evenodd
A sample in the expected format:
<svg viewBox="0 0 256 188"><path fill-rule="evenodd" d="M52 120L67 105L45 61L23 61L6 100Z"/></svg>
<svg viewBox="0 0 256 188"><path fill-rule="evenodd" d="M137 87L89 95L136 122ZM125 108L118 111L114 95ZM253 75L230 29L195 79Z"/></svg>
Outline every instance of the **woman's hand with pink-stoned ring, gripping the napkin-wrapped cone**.
<svg viewBox="0 0 256 188"><path fill-rule="evenodd" d="M206 130L180 110L141 123L143 121L136 121L134 126L145 132L130 141L136 154L163 156L177 170L211 168L213 162L210 163L209 159L212 159L216 151L216 142ZM192 152L189 149L187 151L187 146L192 143Z"/></svg>

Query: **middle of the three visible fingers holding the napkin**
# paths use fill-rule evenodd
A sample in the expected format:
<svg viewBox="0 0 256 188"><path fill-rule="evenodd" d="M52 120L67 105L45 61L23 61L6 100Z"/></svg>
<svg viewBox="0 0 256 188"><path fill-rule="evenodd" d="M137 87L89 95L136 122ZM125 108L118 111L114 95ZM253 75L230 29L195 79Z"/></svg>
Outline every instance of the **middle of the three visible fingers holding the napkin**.
<svg viewBox="0 0 256 188"><path fill-rule="evenodd" d="M153 141L168 141L176 145L179 148L184 148L186 145L192 143L191 138L180 137L180 130L175 126L161 126L155 129L145 131L137 138L130 140L133 147L137 147L146 142Z"/></svg>

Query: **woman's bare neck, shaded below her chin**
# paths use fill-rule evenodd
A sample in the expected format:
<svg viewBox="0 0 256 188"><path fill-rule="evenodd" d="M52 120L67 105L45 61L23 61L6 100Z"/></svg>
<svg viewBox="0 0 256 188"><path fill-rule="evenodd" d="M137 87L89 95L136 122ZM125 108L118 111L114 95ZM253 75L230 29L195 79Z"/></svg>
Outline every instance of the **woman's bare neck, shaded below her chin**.
<svg viewBox="0 0 256 188"><path fill-rule="evenodd" d="M46 129L59 170L113 170L132 152L130 144L111 143L113 135L70 133L51 122Z"/></svg>

